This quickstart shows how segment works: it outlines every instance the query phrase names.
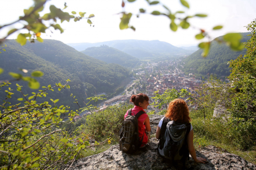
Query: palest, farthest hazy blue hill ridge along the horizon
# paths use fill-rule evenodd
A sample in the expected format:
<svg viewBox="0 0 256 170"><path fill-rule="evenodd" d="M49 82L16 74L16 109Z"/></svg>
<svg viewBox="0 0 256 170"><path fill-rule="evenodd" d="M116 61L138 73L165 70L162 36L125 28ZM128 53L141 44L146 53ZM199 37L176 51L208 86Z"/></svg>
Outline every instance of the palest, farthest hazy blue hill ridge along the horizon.
<svg viewBox="0 0 256 170"><path fill-rule="evenodd" d="M172 56L193 53L192 51L187 51L183 48L159 40L113 40L97 43L68 43L68 45L74 47L77 51L83 51L86 50L86 48L93 46L108 45L138 59L158 58L162 55Z"/></svg>

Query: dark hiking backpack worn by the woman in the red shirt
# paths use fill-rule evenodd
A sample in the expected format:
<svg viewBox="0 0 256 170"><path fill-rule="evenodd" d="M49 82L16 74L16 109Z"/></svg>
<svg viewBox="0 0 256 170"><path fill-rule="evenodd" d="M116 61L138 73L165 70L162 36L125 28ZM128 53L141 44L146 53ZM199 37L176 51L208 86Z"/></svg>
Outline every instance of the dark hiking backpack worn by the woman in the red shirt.
<svg viewBox="0 0 256 170"><path fill-rule="evenodd" d="M119 131L119 149L120 151L128 154L132 154L140 148L142 144L142 138L139 138L138 131L138 118L140 115L145 113L144 111L139 111L135 116L132 115L132 109L128 110L128 115L125 117L122 123L122 128Z"/></svg>

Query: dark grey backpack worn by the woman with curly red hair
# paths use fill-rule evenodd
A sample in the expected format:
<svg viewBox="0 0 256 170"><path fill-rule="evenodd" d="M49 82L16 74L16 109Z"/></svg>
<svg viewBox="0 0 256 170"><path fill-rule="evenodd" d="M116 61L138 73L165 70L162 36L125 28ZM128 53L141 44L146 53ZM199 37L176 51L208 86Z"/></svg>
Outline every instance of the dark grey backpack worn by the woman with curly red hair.
<svg viewBox="0 0 256 170"><path fill-rule="evenodd" d="M190 126L190 123L179 124L164 117L158 143L158 153L171 160L185 161L185 158L189 159L187 135Z"/></svg>

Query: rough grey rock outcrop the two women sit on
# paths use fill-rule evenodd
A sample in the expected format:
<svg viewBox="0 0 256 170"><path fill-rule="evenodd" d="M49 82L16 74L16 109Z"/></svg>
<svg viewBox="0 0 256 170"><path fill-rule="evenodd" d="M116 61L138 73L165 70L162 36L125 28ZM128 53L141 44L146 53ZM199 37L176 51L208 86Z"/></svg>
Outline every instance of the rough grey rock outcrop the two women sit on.
<svg viewBox="0 0 256 170"><path fill-rule="evenodd" d="M162 115L151 116L151 125L157 126ZM154 132L155 133L155 132ZM179 165L174 166L169 160L163 159L157 153L156 138L152 138L148 146L137 151L135 154L125 154L119 151L119 145L113 145L110 149L97 155L88 156L78 159L71 169L172 169L175 170ZM195 163L189 157L186 161L188 169L256 169L256 165L247 162L238 155L230 154L227 151L209 145L196 151L198 157L203 157L207 161L203 163Z"/></svg>

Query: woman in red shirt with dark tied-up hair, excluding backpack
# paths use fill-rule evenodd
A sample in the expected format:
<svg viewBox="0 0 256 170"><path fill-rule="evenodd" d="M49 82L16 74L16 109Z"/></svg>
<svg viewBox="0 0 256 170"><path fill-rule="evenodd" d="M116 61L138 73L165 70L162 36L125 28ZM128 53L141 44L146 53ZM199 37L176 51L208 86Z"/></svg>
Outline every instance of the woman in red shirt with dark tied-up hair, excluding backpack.
<svg viewBox="0 0 256 170"><path fill-rule="evenodd" d="M132 115L136 115L139 111L144 111L144 109L147 109L147 106L149 105L148 103L149 99L146 94L139 93L137 95L133 94L131 96L130 102L134 103L134 108L132 109ZM144 111L145 112L145 111ZM128 115L128 111L124 115L124 118ZM146 114L142 114L138 118L138 130L139 130L139 137L140 140L143 136L141 148L145 147L146 143L150 139L150 132L151 132L151 127L150 127L150 118ZM148 134L148 135L147 135Z"/></svg>

